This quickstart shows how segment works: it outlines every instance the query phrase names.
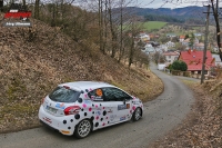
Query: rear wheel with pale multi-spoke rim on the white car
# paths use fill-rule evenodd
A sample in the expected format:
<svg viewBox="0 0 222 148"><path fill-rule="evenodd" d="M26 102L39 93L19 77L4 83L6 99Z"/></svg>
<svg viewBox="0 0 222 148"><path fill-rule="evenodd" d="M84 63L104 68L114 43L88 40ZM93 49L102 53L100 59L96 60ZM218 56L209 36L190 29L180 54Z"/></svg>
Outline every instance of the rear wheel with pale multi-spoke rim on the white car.
<svg viewBox="0 0 222 148"><path fill-rule="evenodd" d="M91 121L88 119L83 119L75 126L74 136L79 139L82 139L89 136L91 130L92 130Z"/></svg>

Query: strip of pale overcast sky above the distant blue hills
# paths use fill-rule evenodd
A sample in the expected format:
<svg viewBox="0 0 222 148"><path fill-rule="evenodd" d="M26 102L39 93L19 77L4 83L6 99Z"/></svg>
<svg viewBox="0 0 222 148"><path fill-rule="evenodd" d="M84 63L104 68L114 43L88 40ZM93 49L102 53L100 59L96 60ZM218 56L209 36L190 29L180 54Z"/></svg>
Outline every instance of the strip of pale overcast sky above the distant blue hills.
<svg viewBox="0 0 222 148"><path fill-rule="evenodd" d="M208 0L137 0L139 7L141 8L182 8L189 6L200 6L208 4ZM169 1L169 2L168 2ZM199 2L196 2L199 1Z"/></svg>

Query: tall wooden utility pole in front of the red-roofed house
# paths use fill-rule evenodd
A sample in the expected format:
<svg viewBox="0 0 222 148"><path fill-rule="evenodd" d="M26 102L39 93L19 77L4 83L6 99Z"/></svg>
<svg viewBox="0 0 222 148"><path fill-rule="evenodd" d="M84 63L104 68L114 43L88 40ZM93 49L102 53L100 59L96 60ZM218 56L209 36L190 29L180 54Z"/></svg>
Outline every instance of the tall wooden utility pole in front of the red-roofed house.
<svg viewBox="0 0 222 148"><path fill-rule="evenodd" d="M203 50L203 62L202 62L202 71L201 71L201 85L204 81L204 73L205 73L205 60L206 60L206 47L208 47L208 34L209 34L209 16L210 16L210 8L211 6L208 7L208 12L206 13L206 20L205 20L205 36L204 36L204 50Z"/></svg>

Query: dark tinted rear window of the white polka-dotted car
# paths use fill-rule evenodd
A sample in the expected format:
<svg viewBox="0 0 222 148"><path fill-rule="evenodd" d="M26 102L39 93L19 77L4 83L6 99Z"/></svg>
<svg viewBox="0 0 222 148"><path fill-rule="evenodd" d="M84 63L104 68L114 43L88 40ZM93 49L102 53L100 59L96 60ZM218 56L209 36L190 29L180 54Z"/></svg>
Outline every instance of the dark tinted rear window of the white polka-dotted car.
<svg viewBox="0 0 222 148"><path fill-rule="evenodd" d="M77 101L79 96L79 91L68 89L64 87L58 87L49 95L49 98L53 101L59 102L74 102Z"/></svg>

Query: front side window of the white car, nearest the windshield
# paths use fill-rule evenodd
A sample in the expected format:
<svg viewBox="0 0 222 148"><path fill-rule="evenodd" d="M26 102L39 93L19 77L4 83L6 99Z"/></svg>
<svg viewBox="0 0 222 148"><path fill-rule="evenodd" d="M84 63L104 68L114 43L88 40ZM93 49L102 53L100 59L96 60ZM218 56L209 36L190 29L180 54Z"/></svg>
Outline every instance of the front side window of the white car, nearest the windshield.
<svg viewBox="0 0 222 148"><path fill-rule="evenodd" d="M124 91L117 88L102 88L105 101L123 101L125 99L132 99Z"/></svg>

